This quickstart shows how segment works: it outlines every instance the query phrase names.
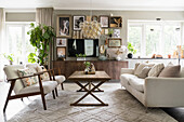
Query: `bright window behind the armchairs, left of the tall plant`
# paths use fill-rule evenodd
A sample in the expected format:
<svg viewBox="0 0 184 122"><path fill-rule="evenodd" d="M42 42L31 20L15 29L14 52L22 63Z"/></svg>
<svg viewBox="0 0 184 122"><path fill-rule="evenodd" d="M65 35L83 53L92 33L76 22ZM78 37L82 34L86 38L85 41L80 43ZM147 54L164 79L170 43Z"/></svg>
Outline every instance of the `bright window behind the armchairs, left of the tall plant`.
<svg viewBox="0 0 184 122"><path fill-rule="evenodd" d="M29 53L35 52L27 35L29 24L6 23L8 52L14 54L14 64L27 63Z"/></svg>

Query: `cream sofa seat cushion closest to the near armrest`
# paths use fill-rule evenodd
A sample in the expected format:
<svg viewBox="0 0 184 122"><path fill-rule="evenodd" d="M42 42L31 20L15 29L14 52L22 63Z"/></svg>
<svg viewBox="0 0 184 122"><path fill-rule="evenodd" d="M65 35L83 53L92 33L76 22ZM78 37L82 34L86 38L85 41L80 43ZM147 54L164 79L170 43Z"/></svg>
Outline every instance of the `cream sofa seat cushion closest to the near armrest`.
<svg viewBox="0 0 184 122"><path fill-rule="evenodd" d="M144 79L140 78L130 78L129 84L135 89L136 91L143 92L144 93Z"/></svg>

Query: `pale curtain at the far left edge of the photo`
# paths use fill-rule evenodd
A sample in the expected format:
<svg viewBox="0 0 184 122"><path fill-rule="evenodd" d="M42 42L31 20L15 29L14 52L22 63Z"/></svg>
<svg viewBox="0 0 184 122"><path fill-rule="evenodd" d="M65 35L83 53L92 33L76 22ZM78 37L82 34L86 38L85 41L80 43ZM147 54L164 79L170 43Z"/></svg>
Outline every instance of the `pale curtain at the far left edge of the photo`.
<svg viewBox="0 0 184 122"><path fill-rule="evenodd" d="M3 73L3 66L4 66L4 58L3 53L5 53L5 36L4 36L4 22L5 22L5 14L3 9L0 8L0 81L3 80L4 73Z"/></svg>

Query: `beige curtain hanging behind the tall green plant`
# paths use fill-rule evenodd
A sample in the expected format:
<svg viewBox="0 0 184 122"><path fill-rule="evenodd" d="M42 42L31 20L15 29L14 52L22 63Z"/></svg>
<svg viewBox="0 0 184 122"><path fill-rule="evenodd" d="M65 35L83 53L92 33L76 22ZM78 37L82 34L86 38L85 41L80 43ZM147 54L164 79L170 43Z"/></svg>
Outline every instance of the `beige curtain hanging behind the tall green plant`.
<svg viewBox="0 0 184 122"><path fill-rule="evenodd" d="M53 9L52 8L38 8L36 13L36 23L44 24L47 26L53 26ZM53 59L53 43L50 44L49 52L49 68L51 67L51 60Z"/></svg>

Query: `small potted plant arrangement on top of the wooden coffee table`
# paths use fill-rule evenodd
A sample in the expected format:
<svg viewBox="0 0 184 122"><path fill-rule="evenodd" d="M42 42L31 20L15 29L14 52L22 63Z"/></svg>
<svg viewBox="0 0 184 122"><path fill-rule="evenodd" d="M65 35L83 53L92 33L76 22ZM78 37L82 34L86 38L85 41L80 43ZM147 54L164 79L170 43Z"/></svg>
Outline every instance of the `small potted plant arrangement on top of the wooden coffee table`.
<svg viewBox="0 0 184 122"><path fill-rule="evenodd" d="M86 74L95 74L95 67L92 63L90 62L84 62L83 63L86 68L84 68L84 73Z"/></svg>

